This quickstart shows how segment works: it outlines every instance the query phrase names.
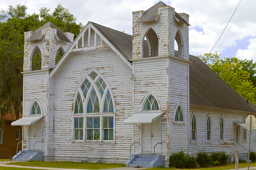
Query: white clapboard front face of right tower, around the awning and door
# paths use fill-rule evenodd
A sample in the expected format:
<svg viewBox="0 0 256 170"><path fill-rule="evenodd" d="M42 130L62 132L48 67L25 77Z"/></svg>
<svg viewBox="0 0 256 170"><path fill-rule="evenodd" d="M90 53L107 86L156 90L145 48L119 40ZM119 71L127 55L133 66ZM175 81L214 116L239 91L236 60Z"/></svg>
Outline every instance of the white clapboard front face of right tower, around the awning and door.
<svg viewBox="0 0 256 170"><path fill-rule="evenodd" d="M152 92L164 114L161 116L161 153L165 155L167 159L168 150L168 130L166 126L168 104L167 104L167 70L168 64L166 58L150 60L137 60L133 61L134 65L134 111L141 111L142 100L148 92ZM141 126L134 125L134 141L141 142ZM135 145L135 153L141 152L141 147Z"/></svg>

